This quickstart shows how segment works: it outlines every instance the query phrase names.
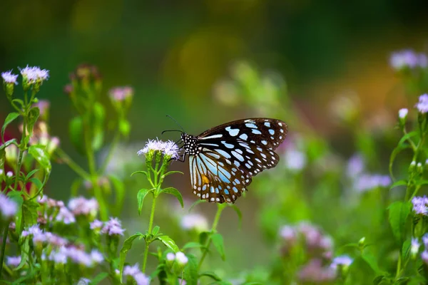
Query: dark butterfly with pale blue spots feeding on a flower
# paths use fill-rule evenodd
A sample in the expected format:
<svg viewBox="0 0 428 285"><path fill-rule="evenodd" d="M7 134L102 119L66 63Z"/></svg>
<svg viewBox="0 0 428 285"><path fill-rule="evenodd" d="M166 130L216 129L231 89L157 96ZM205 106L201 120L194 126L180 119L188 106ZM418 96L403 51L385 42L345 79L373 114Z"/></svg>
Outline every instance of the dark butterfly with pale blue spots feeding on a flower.
<svg viewBox="0 0 428 285"><path fill-rule="evenodd" d="M208 202L234 203L253 176L275 167L280 157L273 151L285 139L281 120L235 120L198 136L182 133L183 158L189 155L192 190ZM184 161L184 160L183 160Z"/></svg>

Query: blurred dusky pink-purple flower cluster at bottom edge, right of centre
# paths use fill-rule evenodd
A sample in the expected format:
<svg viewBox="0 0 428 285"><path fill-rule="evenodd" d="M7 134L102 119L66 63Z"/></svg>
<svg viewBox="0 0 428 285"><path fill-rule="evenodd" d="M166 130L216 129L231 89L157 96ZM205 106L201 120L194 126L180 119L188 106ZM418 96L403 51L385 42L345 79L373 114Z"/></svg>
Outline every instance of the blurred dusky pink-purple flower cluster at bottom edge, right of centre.
<svg viewBox="0 0 428 285"><path fill-rule="evenodd" d="M311 259L300 269L297 276L301 282L325 283L334 280L336 272L328 266L322 266L320 259Z"/></svg>

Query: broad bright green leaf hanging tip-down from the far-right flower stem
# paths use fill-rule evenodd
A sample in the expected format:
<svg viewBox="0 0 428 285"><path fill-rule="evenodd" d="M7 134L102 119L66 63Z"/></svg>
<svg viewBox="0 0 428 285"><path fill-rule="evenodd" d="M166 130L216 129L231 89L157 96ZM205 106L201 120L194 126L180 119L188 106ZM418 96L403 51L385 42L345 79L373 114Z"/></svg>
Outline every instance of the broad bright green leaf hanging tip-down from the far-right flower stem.
<svg viewBox="0 0 428 285"><path fill-rule="evenodd" d="M397 201L389 205L389 224L392 228L392 233L400 244L404 242L406 233L406 222L411 211L409 202Z"/></svg>

